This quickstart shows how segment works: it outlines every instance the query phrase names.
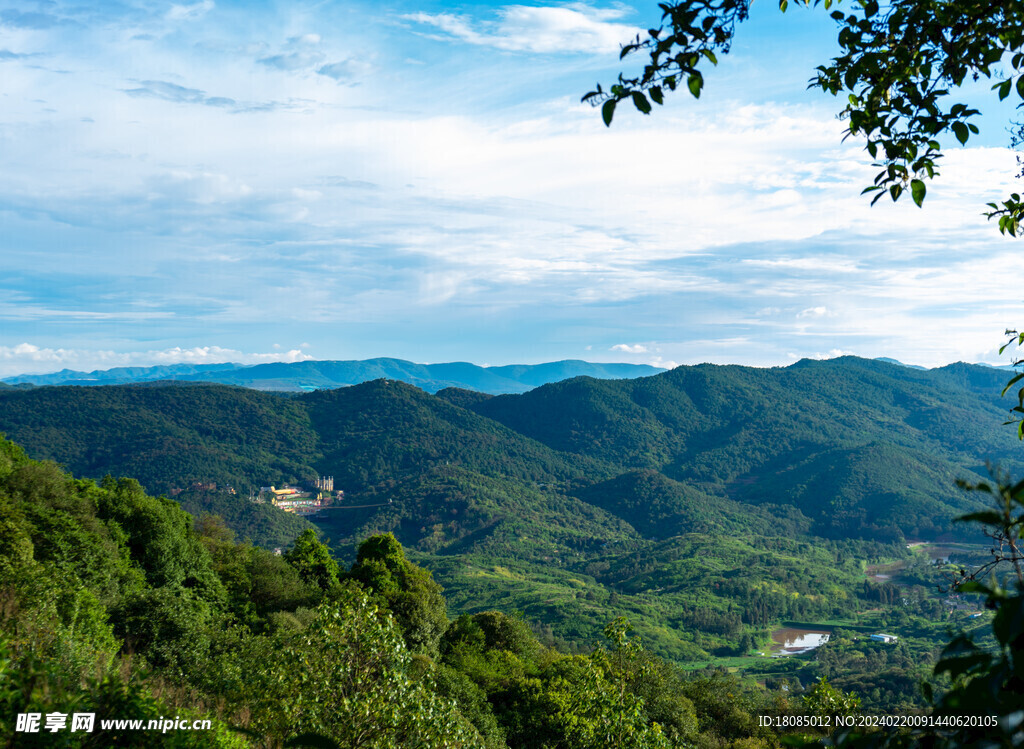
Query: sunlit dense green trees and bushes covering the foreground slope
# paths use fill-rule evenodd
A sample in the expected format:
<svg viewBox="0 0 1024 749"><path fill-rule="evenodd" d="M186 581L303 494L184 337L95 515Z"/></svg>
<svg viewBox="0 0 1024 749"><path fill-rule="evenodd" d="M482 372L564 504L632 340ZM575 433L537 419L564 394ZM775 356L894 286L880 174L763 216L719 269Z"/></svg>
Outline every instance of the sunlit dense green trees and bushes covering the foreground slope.
<svg viewBox="0 0 1024 749"><path fill-rule="evenodd" d="M498 612L450 622L393 536L343 571L313 534L284 555L233 541L131 480L96 485L0 442L0 732L10 746L148 746L110 719L209 719L170 746L596 749L771 741L765 700L686 676L624 621L561 655ZM731 705L723 712L721 696ZM93 712L93 731L18 714ZM24 726L23 726L24 727Z"/></svg>

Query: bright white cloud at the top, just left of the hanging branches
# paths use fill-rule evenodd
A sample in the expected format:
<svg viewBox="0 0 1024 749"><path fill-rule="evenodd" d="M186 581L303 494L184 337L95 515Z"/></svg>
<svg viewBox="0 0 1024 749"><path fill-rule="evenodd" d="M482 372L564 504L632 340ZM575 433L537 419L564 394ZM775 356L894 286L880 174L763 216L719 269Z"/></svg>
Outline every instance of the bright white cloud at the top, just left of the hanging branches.
<svg viewBox="0 0 1024 749"><path fill-rule="evenodd" d="M498 20L475 22L453 13L412 13L407 20L431 26L449 38L509 51L538 53L586 52L611 54L641 33L637 27L613 23L621 10L582 3L554 7L506 5Z"/></svg>

